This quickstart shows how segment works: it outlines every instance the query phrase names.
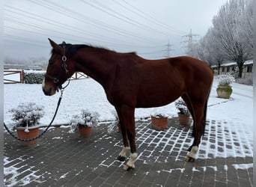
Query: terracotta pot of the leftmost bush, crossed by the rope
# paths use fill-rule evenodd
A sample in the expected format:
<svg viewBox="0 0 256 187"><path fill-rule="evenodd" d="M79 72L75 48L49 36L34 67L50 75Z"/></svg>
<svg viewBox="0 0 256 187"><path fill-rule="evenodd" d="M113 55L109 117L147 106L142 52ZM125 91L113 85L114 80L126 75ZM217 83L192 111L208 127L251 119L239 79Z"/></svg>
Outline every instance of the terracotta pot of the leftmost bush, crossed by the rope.
<svg viewBox="0 0 256 187"><path fill-rule="evenodd" d="M39 127L28 127L29 132L25 132L25 127L17 127L16 132L19 138L22 139L31 139L37 137L39 135ZM37 143L37 139L34 141L20 141L22 145L30 145Z"/></svg>

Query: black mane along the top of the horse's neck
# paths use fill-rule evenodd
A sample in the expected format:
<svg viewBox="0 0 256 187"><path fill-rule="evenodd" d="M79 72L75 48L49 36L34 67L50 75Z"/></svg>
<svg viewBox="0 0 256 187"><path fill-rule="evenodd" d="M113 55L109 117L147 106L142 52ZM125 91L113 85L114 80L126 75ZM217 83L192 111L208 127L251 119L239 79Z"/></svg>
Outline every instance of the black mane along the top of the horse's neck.
<svg viewBox="0 0 256 187"><path fill-rule="evenodd" d="M59 44L59 46L63 47L63 44ZM86 44L71 44L71 43L66 43L65 46L67 47L68 52L70 52L70 55L73 56L76 54L76 51L78 51L81 48L93 48L93 49L98 49L102 52L114 52L114 53L119 53L119 54L127 54L127 55L137 55L136 52L115 52L114 50L110 50L104 47L99 47L99 46L91 46L91 45L86 45ZM55 49L52 49L51 53L55 53ZM62 54L61 54L62 55Z"/></svg>

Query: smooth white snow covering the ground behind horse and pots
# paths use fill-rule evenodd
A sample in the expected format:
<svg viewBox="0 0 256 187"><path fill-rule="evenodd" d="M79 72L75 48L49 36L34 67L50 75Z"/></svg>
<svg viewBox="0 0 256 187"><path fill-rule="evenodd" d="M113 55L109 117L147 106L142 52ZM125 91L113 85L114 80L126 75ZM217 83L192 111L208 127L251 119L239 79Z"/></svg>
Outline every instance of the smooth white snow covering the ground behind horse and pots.
<svg viewBox="0 0 256 187"><path fill-rule="evenodd" d="M252 86L234 83L231 99L217 98L217 82L213 88L208 102L207 118L214 120L236 120L252 126ZM19 102L36 102L44 106L45 116L40 123L47 125L55 112L60 93L54 96L45 96L41 85L15 84L4 85L4 122L9 126L13 123L9 110L16 108ZM67 124L73 114L80 114L82 109L90 109L100 114L100 120L114 120L112 114L114 107L109 104L106 94L100 84L93 79L80 79L70 81L64 90L63 99L53 124ZM174 102L159 108L136 108L137 119L149 117L156 111L165 112L168 117L177 116Z"/></svg>

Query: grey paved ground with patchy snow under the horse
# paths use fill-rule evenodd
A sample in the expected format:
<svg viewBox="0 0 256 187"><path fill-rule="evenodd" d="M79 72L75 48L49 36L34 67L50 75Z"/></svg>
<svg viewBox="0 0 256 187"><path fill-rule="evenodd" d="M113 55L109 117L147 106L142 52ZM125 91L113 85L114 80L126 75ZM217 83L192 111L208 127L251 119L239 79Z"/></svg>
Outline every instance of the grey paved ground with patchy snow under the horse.
<svg viewBox="0 0 256 187"><path fill-rule="evenodd" d="M189 127L168 120L155 131L150 120L136 122L138 160L134 171L123 171L116 157L121 134L107 125L90 138L53 128L37 144L22 146L4 133L6 186L252 186L252 138L229 130L234 124L211 120L194 163L184 162L192 142Z"/></svg>

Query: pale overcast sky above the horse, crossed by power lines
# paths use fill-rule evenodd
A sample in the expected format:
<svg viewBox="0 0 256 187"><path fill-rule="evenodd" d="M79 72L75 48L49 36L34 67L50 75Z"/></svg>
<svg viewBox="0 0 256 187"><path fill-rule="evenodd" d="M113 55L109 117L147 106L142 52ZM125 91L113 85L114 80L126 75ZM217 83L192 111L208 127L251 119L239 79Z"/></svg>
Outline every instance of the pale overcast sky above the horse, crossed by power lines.
<svg viewBox="0 0 256 187"><path fill-rule="evenodd" d="M4 57L49 58L56 43L91 44L144 58L184 55L187 37L199 40L226 0L4 1ZM168 41L170 45L169 53Z"/></svg>

